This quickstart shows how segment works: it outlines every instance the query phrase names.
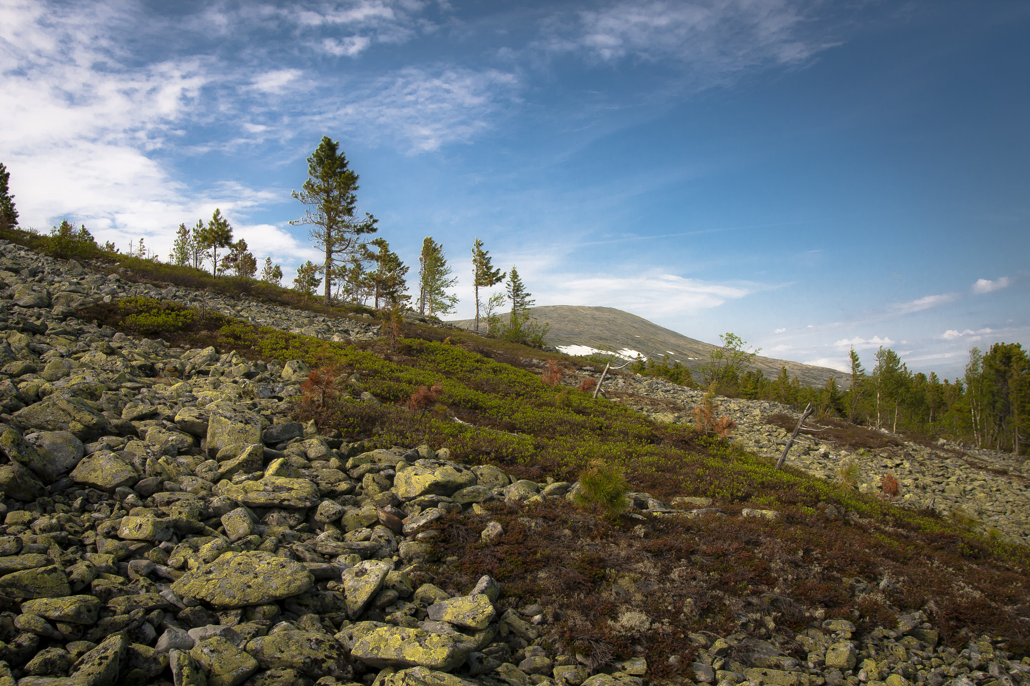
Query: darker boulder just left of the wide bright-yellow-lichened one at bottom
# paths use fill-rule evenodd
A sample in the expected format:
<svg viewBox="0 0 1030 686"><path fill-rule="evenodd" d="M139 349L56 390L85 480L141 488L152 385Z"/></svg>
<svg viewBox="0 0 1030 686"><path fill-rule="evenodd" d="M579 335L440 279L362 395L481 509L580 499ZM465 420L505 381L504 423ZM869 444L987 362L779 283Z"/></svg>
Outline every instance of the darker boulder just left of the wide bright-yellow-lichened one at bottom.
<svg viewBox="0 0 1030 686"><path fill-rule="evenodd" d="M343 645L328 634L276 631L247 643L247 652L263 670L296 670L313 679L336 677L351 681L353 671Z"/></svg>

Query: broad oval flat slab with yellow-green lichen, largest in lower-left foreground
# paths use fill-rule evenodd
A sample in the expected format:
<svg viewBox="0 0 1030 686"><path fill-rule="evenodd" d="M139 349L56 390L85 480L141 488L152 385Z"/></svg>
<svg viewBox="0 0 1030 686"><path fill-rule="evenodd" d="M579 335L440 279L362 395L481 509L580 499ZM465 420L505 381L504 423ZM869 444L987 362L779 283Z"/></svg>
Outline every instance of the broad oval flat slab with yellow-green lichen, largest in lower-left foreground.
<svg viewBox="0 0 1030 686"><path fill-rule="evenodd" d="M227 552L213 563L184 574L172 584L172 591L218 609L230 609L267 605L297 595L314 581L300 563L254 550Z"/></svg>

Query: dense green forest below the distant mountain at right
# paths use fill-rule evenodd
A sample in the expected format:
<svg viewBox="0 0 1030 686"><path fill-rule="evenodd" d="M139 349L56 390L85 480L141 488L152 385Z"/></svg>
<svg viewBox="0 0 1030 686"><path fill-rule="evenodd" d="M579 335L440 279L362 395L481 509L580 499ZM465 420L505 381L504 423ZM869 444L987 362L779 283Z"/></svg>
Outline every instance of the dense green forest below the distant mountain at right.
<svg viewBox="0 0 1030 686"><path fill-rule="evenodd" d="M866 369L858 352L849 353L845 386L834 376L822 388L804 386L782 367L776 378L752 368L758 350L732 333L694 372L679 362L639 358L629 369L690 387L711 388L726 396L775 400L802 409L809 403L823 417L897 432L917 432L960 440L977 447L1027 452L1030 434L1030 357L1020 344L996 342L985 353L969 351L961 378L912 371L898 354L881 347Z"/></svg>

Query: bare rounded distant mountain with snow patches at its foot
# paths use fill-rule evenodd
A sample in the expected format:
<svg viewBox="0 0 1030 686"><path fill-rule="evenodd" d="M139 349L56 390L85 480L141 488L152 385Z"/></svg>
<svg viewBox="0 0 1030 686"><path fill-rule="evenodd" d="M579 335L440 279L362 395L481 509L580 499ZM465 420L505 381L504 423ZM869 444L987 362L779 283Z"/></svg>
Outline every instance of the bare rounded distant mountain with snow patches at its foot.
<svg viewBox="0 0 1030 686"><path fill-rule="evenodd" d="M533 308L530 313L536 319L551 325L547 342L570 355L589 355L594 350L614 350L625 358L636 358L638 353L655 359L668 355L670 359L694 370L699 369L711 352L718 348L615 308L559 304ZM502 315L502 319L507 320L507 315ZM471 319L449 323L468 329L475 324ZM822 386L830 375L836 376L842 386L847 386L844 374L828 367L767 357L756 357L754 366L771 378L780 374L781 367L787 367L791 377L797 376L809 386Z"/></svg>

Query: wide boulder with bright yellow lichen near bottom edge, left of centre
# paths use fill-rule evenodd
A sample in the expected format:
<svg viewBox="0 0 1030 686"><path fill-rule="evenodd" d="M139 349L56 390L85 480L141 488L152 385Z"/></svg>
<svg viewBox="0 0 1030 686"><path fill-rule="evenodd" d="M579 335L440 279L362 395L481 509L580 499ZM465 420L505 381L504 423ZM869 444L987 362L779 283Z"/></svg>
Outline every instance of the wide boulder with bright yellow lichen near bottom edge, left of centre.
<svg viewBox="0 0 1030 686"><path fill-rule="evenodd" d="M350 650L353 659L376 669L425 666L448 672L472 652L445 634L420 628L382 626L358 639Z"/></svg>

